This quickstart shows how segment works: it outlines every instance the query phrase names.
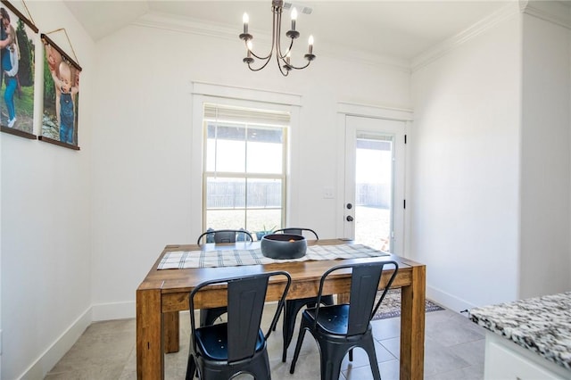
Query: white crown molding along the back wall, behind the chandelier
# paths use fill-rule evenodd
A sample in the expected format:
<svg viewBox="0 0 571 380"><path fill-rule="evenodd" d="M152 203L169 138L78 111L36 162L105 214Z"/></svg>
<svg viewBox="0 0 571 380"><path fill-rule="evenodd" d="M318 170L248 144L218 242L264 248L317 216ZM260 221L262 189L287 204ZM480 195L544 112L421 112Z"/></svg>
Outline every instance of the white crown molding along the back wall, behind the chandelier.
<svg viewBox="0 0 571 380"><path fill-rule="evenodd" d="M230 29L227 25L206 23L198 19L186 16L174 16L158 12L148 12L132 21L130 25L164 29L179 33L194 34L199 36L222 38L236 43L243 43L239 40L239 30ZM271 36L267 31L252 29L252 34L256 36L256 45L271 45ZM255 50L255 48L254 48ZM343 55L338 54L343 50ZM388 57L380 54L370 54L352 49L349 46L319 44L318 60L335 59L344 62L358 62L369 65L388 67L393 70L401 70L410 73L410 62L404 59Z"/></svg>

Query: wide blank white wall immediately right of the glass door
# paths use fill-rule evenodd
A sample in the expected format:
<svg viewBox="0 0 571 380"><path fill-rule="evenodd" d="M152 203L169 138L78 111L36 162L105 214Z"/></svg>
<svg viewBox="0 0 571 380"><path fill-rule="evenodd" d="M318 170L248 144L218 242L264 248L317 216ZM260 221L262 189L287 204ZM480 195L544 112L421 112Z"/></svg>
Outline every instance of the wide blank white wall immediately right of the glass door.
<svg viewBox="0 0 571 380"><path fill-rule="evenodd" d="M458 311L517 297L518 20L412 75L410 252L427 294Z"/></svg>

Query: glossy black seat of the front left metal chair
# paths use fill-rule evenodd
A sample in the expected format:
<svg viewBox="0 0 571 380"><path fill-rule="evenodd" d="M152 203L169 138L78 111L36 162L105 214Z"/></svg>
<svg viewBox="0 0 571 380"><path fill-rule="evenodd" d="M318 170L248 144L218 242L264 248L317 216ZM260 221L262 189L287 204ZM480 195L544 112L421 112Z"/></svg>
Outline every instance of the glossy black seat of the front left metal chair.
<svg viewBox="0 0 571 380"><path fill-rule="evenodd" d="M196 329L196 347L207 359L228 360L228 323L204 326ZM264 348L264 335L261 329L258 331L256 350Z"/></svg>

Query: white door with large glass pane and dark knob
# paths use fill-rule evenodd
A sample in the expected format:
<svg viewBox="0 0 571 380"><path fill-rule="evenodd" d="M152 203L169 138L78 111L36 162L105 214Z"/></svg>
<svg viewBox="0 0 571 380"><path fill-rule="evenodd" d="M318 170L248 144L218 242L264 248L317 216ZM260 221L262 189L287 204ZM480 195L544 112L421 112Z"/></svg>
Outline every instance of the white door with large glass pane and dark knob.
<svg viewBox="0 0 571 380"><path fill-rule="evenodd" d="M404 251L406 123L347 116L343 235L360 244Z"/></svg>

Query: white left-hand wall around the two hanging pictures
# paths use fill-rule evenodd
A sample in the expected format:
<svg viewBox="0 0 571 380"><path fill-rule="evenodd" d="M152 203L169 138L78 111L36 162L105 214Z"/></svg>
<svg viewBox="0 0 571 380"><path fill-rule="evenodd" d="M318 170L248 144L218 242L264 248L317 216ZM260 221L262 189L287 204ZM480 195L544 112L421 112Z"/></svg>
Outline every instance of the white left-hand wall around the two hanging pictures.
<svg viewBox="0 0 571 380"><path fill-rule="evenodd" d="M81 150L7 134L1 139L2 378L6 380L43 378L91 321L93 97L88 89L94 86L95 46L61 2L26 4L41 32L67 30L83 68ZM70 52L62 32L50 37ZM36 43L41 45L39 37ZM36 82L36 91L41 91L42 78L37 76ZM35 121L37 133L41 120Z"/></svg>

